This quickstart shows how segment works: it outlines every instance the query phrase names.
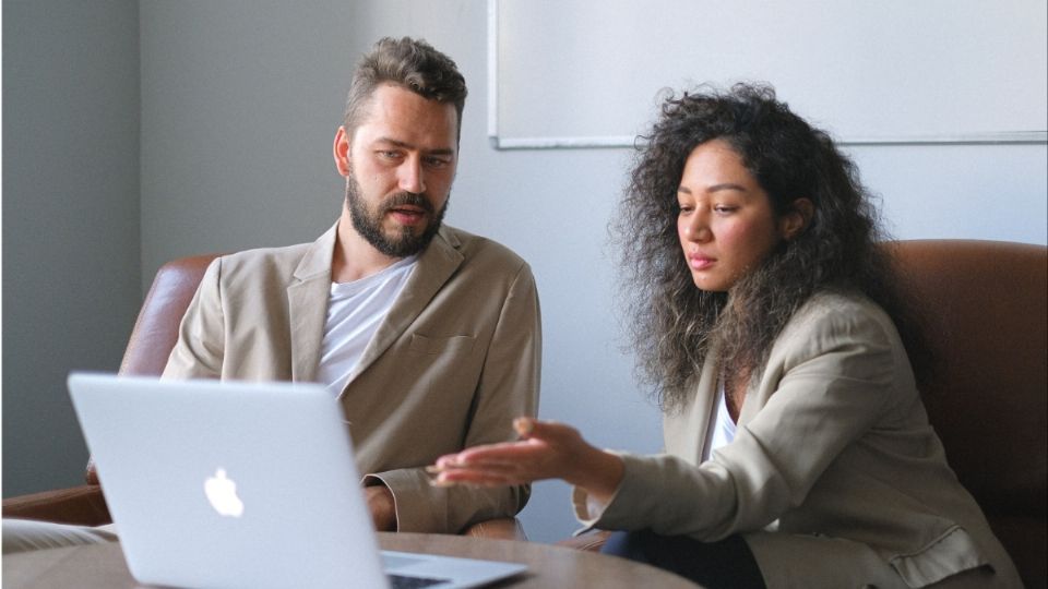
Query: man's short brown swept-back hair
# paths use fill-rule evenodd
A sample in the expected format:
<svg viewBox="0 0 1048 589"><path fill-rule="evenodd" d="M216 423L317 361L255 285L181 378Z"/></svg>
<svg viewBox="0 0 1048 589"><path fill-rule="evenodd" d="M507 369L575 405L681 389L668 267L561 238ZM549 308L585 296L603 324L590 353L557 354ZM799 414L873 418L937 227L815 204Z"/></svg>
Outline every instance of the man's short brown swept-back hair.
<svg viewBox="0 0 1048 589"><path fill-rule="evenodd" d="M414 92L427 100L455 106L458 116L456 137L462 134L462 109L466 104L466 80L458 67L422 39L404 37L379 39L357 64L346 98L343 124L353 135L374 89L391 83Z"/></svg>

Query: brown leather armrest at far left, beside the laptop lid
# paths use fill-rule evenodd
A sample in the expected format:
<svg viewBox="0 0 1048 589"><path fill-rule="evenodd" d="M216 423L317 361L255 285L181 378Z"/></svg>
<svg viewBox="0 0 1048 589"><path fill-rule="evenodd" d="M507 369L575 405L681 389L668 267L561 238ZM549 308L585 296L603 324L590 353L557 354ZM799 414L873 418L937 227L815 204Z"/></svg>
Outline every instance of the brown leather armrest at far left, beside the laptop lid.
<svg viewBox="0 0 1048 589"><path fill-rule="evenodd" d="M102 488L82 484L3 500L3 517L102 526L112 521Z"/></svg>

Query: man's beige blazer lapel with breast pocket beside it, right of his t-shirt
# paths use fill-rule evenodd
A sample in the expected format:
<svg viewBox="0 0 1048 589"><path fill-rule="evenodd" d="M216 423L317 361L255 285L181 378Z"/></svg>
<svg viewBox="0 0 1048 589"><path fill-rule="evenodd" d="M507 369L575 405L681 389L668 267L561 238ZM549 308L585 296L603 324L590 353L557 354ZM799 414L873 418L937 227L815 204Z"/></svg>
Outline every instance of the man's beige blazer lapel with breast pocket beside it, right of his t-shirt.
<svg viewBox="0 0 1048 589"><path fill-rule="evenodd" d="M437 291L458 269L464 260L463 255L458 253L458 240L446 227L441 228L440 232L433 237L433 241L419 256L418 265L415 266L415 271L404 286L401 296L397 297L368 347L364 350L360 362L353 371L353 376L349 377L350 384L407 330L408 326L437 294ZM343 389L343 394L345 394L345 389Z"/></svg>

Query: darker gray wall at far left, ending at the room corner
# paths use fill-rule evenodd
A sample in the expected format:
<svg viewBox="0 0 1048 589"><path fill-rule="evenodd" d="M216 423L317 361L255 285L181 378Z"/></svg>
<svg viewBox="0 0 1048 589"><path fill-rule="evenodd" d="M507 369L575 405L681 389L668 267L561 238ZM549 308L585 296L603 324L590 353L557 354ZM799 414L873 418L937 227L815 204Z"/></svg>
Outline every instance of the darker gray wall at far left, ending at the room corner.
<svg viewBox="0 0 1048 589"><path fill-rule="evenodd" d="M83 480L66 374L141 301L139 111L138 2L4 0L4 496Z"/></svg>

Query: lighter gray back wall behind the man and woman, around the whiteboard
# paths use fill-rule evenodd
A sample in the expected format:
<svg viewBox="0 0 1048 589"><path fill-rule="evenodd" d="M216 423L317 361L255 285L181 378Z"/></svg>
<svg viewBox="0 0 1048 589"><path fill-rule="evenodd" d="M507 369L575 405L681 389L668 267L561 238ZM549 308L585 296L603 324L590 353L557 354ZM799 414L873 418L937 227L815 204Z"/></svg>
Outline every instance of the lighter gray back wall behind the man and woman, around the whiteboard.
<svg viewBox="0 0 1048 589"><path fill-rule="evenodd" d="M490 147L485 2L143 0L139 10L141 151L135 153L141 157L141 221L131 219L128 226L141 223L141 275L135 279L143 288L171 257L301 242L326 229L342 200L331 142L348 73L379 36L422 36L458 62L471 87L448 220L513 248L532 263L538 280L545 328L540 413L577 425L600 446L636 452L660 447L657 411L636 393L632 361L619 351L612 303L617 256L606 227L629 152ZM8 19L4 14L5 88ZM112 64L97 67L112 71ZM10 124L8 106L5 94L4 122ZM636 121L636 127L642 123ZM11 140L7 129L4 133L7 192ZM870 187L883 195L886 220L900 238L1046 242L1044 144L850 151ZM5 256L11 247L26 251L33 243L31 238L9 240L7 207L5 199ZM41 208L34 214L47 217ZM7 289L14 275L4 262ZM4 303L7 322L35 313L29 305ZM52 329L45 338L67 333ZM127 332L106 337L120 348ZM84 337L78 342L91 347L98 340ZM27 362L34 351L19 346L21 341L20 336L12 344L5 325L5 469L14 459L7 433L8 350L19 347L12 363ZM63 392L47 395L48 402L67 411ZM17 402L26 405L23 396ZM48 414L21 410L35 423ZM56 432L69 428L55 424ZM79 476L80 466L70 467L70 477ZM20 477L25 486L46 485L35 474ZM567 486L537 484L522 519L535 540L569 534L574 524Z"/></svg>

